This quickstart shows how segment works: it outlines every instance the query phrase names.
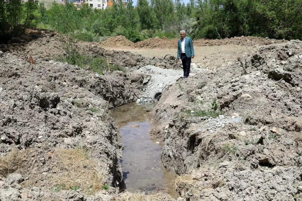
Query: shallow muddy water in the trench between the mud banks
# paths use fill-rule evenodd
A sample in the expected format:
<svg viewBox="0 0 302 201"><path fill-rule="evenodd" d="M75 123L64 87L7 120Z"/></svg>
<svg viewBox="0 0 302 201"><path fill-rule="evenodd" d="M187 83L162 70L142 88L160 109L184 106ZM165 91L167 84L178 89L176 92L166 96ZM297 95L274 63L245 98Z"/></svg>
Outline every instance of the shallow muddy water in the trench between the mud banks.
<svg viewBox="0 0 302 201"><path fill-rule="evenodd" d="M176 174L166 171L160 161L162 147L149 137L150 124L147 111L154 104L126 104L111 110L115 123L122 134L124 144L121 160L125 189L130 192L145 191L153 193L164 191L172 197L177 197L173 190ZM147 110L147 111L146 111Z"/></svg>

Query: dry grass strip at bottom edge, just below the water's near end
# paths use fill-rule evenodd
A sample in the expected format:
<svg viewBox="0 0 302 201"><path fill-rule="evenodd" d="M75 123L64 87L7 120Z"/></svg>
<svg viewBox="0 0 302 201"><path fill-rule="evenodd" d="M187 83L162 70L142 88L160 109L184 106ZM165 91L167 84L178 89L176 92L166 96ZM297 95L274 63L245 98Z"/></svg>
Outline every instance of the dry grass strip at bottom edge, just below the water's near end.
<svg viewBox="0 0 302 201"><path fill-rule="evenodd" d="M152 193L146 195L142 192L130 193L125 191L114 196L111 201L172 201L173 199L167 193Z"/></svg>

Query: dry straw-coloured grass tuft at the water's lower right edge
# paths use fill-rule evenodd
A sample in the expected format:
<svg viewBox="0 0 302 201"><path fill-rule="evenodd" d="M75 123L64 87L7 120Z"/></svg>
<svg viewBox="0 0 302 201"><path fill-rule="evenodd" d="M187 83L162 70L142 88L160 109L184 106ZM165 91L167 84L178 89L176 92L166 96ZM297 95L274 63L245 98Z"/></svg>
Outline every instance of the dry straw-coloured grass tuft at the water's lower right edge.
<svg viewBox="0 0 302 201"><path fill-rule="evenodd" d="M198 186L197 181L192 179L190 174L185 174L179 176L175 179L174 188L181 193L183 196L184 193L191 192L194 194L198 194Z"/></svg>

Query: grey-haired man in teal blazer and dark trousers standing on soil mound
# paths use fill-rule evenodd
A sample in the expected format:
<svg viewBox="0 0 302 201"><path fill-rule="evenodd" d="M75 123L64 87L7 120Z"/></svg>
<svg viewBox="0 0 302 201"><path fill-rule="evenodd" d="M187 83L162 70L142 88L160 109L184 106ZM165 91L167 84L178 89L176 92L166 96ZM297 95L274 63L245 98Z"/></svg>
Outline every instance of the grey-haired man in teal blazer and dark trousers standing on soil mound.
<svg viewBox="0 0 302 201"><path fill-rule="evenodd" d="M177 60L182 59L184 69L184 78L187 78L190 73L191 59L194 58L194 49L192 39L186 36L184 30L180 31L180 39L177 47Z"/></svg>

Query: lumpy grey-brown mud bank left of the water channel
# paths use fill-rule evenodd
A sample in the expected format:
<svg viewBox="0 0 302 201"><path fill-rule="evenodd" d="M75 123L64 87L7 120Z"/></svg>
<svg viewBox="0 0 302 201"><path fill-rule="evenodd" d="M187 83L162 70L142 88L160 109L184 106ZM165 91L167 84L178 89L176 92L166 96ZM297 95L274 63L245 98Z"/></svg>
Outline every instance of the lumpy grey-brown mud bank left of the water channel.
<svg viewBox="0 0 302 201"><path fill-rule="evenodd" d="M87 67L57 62L55 36L11 43L0 55L1 200L123 200L129 196L118 194L124 187L123 145L109 109L143 92L147 76L132 71L170 61L112 52L127 71L95 75ZM79 43L80 51L103 50L88 44Z"/></svg>

